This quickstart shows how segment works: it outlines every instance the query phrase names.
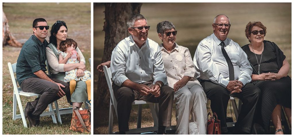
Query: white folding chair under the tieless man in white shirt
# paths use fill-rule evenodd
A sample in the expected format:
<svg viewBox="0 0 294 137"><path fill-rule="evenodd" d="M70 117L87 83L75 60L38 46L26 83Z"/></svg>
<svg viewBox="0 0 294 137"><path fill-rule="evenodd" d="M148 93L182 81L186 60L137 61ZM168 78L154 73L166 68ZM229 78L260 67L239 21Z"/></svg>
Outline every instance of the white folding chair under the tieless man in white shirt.
<svg viewBox="0 0 294 137"><path fill-rule="evenodd" d="M113 130L113 111L115 111L116 116L117 116L117 102L113 94L112 90L112 75L111 75L111 70L110 68L107 68L107 66L103 66L104 74L106 77L107 85L109 88L110 92L110 105L109 105L109 125L108 125L108 134L112 134ZM151 114L154 120L154 126L153 127L147 127L147 128L141 128L141 116L142 116L142 104L149 104L149 107L151 109ZM148 132L148 131L157 131L158 130L158 112L157 110L157 105L156 103L151 103L151 102L146 102L146 101L138 101L135 100L132 105L138 105L138 119L137 119L137 128L135 129L130 129L127 134L132 134L132 133L143 133L143 132ZM113 110L114 109L114 110Z"/></svg>

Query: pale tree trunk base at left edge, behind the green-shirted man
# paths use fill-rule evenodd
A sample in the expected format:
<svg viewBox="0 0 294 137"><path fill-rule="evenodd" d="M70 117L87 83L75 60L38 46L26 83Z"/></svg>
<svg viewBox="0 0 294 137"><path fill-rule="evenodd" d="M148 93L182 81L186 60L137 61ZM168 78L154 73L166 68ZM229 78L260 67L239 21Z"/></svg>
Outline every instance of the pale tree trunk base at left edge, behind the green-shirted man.
<svg viewBox="0 0 294 137"><path fill-rule="evenodd" d="M16 38L14 38L14 36L10 33L9 31L9 25L8 25L8 19L5 16L5 13L3 11L2 14L2 18L3 18L3 39L2 39L2 46L5 45L11 45L13 47L22 47L22 44L19 43Z"/></svg>

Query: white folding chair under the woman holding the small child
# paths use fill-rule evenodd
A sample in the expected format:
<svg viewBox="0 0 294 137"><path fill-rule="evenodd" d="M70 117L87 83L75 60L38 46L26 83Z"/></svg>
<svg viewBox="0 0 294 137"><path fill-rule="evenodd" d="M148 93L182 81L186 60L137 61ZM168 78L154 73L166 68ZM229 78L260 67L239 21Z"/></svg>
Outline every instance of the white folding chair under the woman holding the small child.
<svg viewBox="0 0 294 137"><path fill-rule="evenodd" d="M46 66L47 66L47 72L48 72L48 75L51 75L52 73L51 73L51 68L50 68L50 66L49 66L49 64L48 64L48 62L47 62L47 60L46 60ZM59 121L59 123L60 124L62 124L62 120L61 120L61 115L63 115L63 114L71 114L71 113L73 113L73 108L72 107L68 107L68 108L61 108L61 109L59 109L59 106L58 106L58 103L57 103L57 100L55 101L56 103L55 103L55 109L54 109L54 112L56 113L56 115L57 115L57 119L58 119L58 121ZM86 103L86 102L84 102L84 104L85 104L85 107L86 108L89 108L89 106L88 106L88 104Z"/></svg>

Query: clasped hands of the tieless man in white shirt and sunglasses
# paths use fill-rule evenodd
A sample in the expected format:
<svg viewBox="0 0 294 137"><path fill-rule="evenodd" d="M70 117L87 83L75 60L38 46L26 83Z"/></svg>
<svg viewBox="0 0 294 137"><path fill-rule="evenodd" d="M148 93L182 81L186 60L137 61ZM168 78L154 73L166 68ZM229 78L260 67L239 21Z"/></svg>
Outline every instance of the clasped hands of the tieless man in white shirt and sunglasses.
<svg viewBox="0 0 294 137"><path fill-rule="evenodd" d="M152 87L148 87L144 84L138 84L136 90L139 91L140 94L143 96L146 96L148 94L152 94L155 97L160 96L160 88L157 84L153 85Z"/></svg>

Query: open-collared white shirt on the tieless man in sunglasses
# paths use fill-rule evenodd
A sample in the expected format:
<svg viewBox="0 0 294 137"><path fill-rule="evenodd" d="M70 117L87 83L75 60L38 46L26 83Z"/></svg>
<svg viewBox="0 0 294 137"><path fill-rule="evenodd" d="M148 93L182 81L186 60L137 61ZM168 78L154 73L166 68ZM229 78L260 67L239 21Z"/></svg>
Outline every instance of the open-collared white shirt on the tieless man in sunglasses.
<svg viewBox="0 0 294 137"><path fill-rule="evenodd" d="M126 80L141 84L154 80L167 85L161 51L158 44L147 38L141 49L132 36L121 40L112 51L110 69L116 85Z"/></svg>

